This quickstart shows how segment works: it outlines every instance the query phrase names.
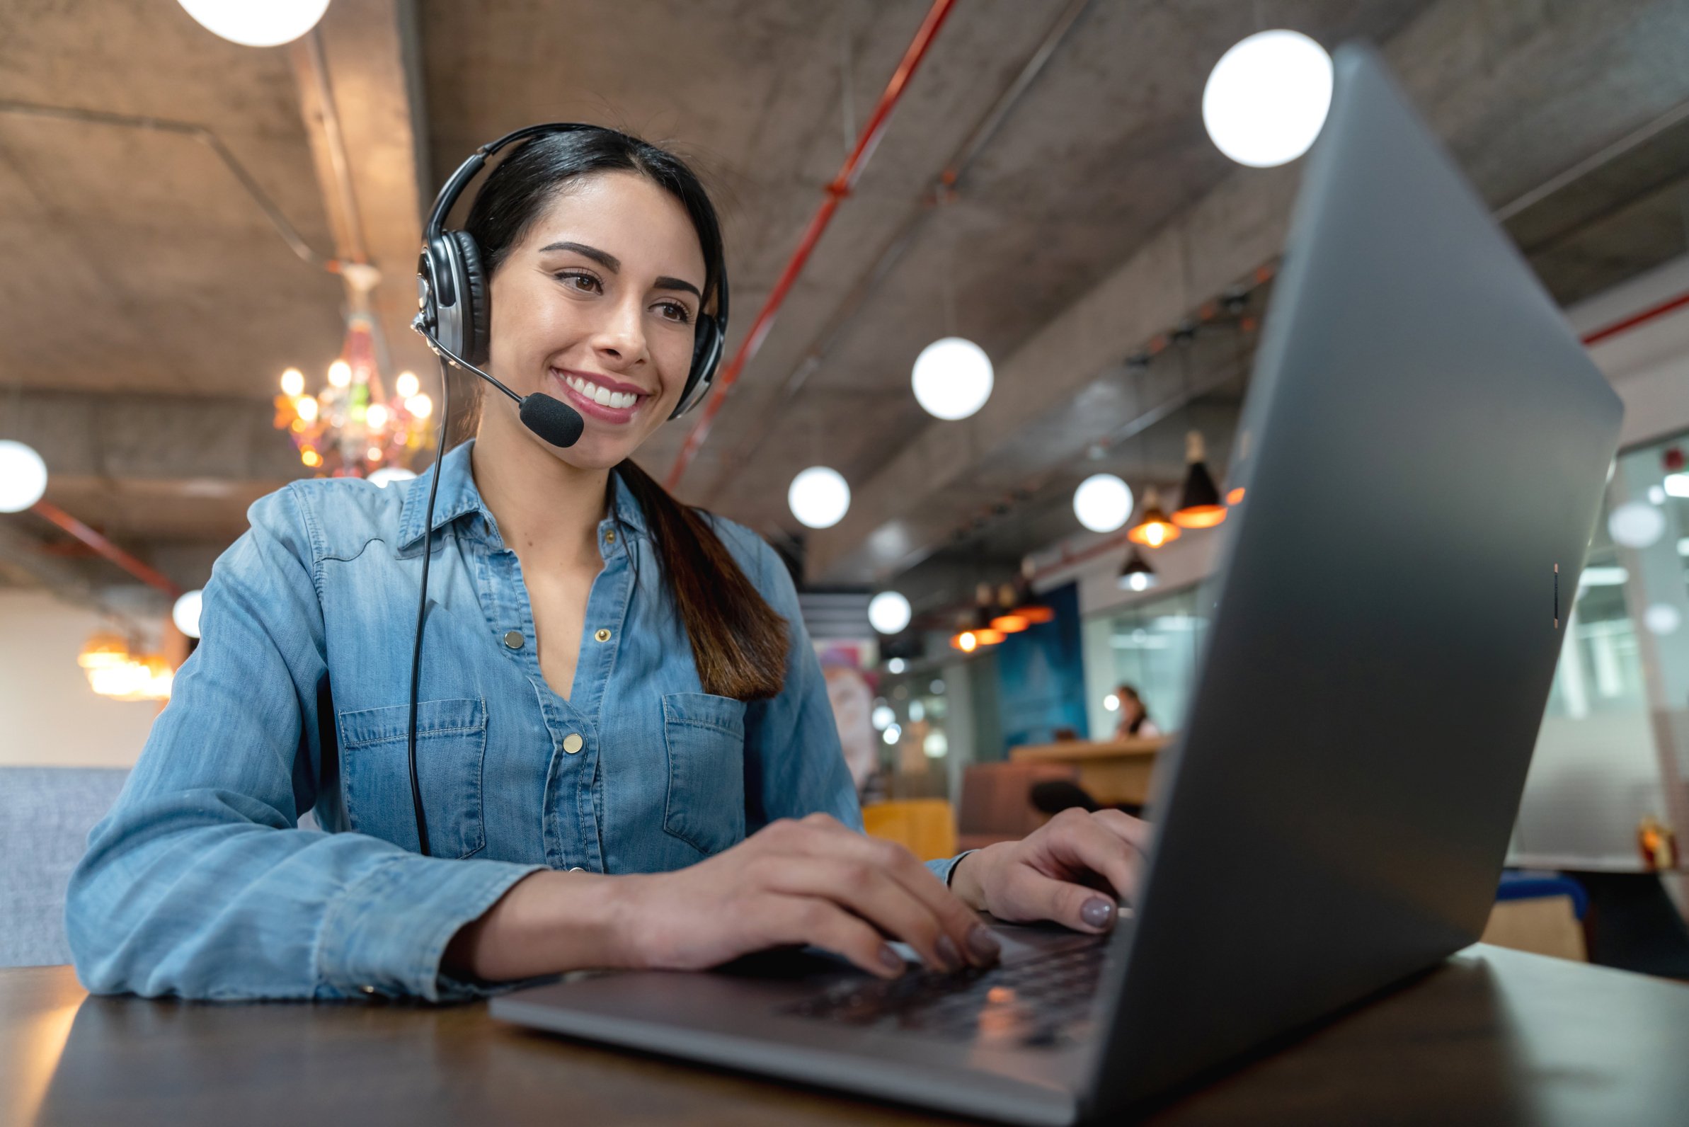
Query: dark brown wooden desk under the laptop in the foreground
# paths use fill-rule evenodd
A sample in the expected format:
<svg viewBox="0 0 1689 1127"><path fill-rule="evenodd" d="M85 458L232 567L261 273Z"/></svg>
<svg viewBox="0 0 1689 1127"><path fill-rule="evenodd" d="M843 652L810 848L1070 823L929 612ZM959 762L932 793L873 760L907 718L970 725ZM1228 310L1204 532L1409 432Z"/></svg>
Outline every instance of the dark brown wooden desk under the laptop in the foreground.
<svg viewBox="0 0 1689 1127"><path fill-rule="evenodd" d="M1689 987L1474 946L1152 1124L1674 1124ZM530 1034L485 1005L91 999L0 970L0 1122L954 1124Z"/></svg>

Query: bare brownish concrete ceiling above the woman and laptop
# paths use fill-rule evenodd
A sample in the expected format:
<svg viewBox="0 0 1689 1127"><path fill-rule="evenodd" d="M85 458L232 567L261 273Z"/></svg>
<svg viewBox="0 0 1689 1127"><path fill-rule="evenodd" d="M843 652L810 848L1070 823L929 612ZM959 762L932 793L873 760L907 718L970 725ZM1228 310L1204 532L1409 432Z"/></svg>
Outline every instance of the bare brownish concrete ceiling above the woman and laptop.
<svg viewBox="0 0 1689 1127"><path fill-rule="evenodd" d="M395 365L426 372L402 329L419 208L473 147L535 120L606 122L701 166L726 220L736 345L926 8L334 0L321 42ZM1066 498L1084 473L1172 482L1189 424L1223 473L1253 340L1238 319L1258 321L1255 272L1297 174L1238 169L1201 128L1203 79L1257 10L1326 44L1382 42L1496 206L1689 100L1681 0L1093 0L954 201L926 203L1064 8L958 5L681 483L796 544L785 482L839 468L855 504L801 537L812 580L924 568L932 600L964 596L964 573L1000 576L1078 527ZM223 42L174 0L0 7L0 100L201 123L312 247L351 257L299 66L299 47ZM1682 252L1686 130L1510 216L1559 299ZM902 230L907 252L841 319ZM321 372L338 351L339 280L289 252L206 145L111 125L0 113L0 436L37 441L52 500L201 581L245 504L301 473L269 397L280 368ZM1238 286L1246 308L1203 321L1186 353L1123 367ZM997 362L993 402L959 424L909 394L915 353L944 333ZM665 471L684 431L642 461ZM5 520L14 553L20 536L57 544L32 517Z"/></svg>

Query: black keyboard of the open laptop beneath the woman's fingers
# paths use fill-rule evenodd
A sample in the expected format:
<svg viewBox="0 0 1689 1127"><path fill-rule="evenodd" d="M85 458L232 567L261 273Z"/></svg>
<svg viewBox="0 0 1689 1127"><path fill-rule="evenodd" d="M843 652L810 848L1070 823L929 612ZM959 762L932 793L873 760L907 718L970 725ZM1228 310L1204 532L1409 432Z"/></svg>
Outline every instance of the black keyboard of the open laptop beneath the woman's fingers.
<svg viewBox="0 0 1689 1127"><path fill-rule="evenodd" d="M1106 943L1091 943L1010 966L910 970L902 978L841 983L780 1012L948 1041L1056 1048L1089 1034L1106 951Z"/></svg>

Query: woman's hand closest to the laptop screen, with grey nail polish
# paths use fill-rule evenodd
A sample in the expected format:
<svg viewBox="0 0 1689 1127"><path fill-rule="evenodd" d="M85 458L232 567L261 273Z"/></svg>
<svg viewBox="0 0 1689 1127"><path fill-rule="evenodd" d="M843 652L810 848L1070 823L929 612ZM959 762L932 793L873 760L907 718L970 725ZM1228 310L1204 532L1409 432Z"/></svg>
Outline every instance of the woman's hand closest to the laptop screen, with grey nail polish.
<svg viewBox="0 0 1689 1127"><path fill-rule="evenodd" d="M1115 926L1116 904L1137 894L1149 845L1147 821L1118 809L1064 809L1018 841L963 857L951 890L1010 923L1052 919L1101 933Z"/></svg>

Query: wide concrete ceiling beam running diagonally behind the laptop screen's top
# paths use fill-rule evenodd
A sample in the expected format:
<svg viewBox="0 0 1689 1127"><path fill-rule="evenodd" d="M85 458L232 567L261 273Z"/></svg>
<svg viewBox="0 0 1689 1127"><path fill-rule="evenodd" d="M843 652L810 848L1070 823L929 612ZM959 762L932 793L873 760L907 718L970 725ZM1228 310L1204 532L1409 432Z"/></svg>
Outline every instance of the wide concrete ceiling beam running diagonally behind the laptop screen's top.
<svg viewBox="0 0 1689 1127"><path fill-rule="evenodd" d="M1689 98L1689 69L1667 57L1684 19L1665 0L1441 0L1385 56L1500 204ZM844 520L809 537L807 578L883 581L971 519L959 495L1005 466L1054 471L1128 421L1140 404L1121 360L1279 255L1297 181L1299 166L1240 169L1165 225L997 367L976 416L929 424L856 485Z"/></svg>

